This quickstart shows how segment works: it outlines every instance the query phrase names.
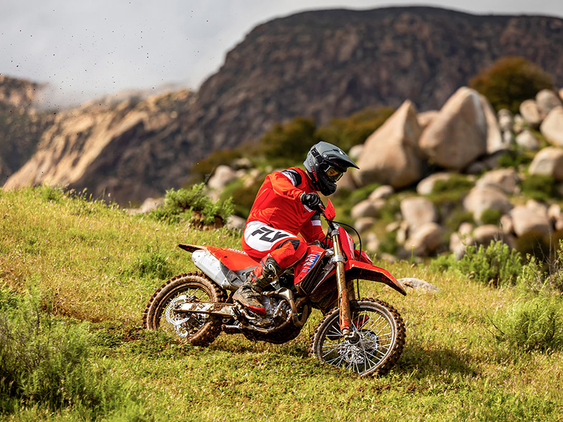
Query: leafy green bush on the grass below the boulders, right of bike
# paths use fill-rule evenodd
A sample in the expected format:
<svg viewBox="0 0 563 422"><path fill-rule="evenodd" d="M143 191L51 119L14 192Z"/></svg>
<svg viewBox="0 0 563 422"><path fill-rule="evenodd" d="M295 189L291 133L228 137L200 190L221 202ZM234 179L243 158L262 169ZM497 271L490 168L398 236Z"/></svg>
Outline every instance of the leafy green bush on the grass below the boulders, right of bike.
<svg viewBox="0 0 563 422"><path fill-rule="evenodd" d="M488 248L468 246L457 269L487 285L513 285L521 274L521 255L501 241L491 241Z"/></svg>

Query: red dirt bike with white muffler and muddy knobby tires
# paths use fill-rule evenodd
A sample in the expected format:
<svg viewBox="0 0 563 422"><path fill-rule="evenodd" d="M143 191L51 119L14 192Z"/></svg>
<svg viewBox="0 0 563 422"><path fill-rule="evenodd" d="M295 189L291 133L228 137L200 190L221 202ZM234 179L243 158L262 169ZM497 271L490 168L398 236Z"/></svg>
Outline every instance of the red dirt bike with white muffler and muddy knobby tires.
<svg viewBox="0 0 563 422"><path fill-rule="evenodd" d="M379 281L403 295L405 290L365 252L354 249L350 235L333 221L330 201L322 215L332 247L308 245L305 257L262 292L265 314L232 300L258 261L241 250L181 244L202 272L180 274L160 286L146 305L145 328L162 329L199 346L209 345L222 331L279 344L296 338L317 308L324 317L312 335L313 357L361 376L388 372L403 352L405 324L386 302L357 300L353 281Z"/></svg>

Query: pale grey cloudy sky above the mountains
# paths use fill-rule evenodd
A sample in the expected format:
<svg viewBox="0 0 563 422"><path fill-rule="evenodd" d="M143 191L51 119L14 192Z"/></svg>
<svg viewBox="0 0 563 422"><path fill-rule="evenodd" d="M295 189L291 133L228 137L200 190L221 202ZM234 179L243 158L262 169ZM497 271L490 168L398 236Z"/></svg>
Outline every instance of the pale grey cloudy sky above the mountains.
<svg viewBox="0 0 563 422"><path fill-rule="evenodd" d="M563 0L0 0L0 74L47 84L49 107L129 90L196 90L260 23L415 5L563 18Z"/></svg>

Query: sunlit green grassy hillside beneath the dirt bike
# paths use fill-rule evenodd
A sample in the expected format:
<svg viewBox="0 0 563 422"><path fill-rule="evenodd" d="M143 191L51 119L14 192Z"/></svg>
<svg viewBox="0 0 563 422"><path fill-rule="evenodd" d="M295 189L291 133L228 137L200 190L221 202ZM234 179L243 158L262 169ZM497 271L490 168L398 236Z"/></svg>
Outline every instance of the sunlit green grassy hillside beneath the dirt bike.
<svg viewBox="0 0 563 422"><path fill-rule="evenodd" d="M561 299L447 266L381 263L437 294L360 283L407 326L403 356L380 378L308 357L318 311L285 345L222 334L199 348L141 328L153 290L196 270L178 243L239 248L239 236L53 188L1 192L0 420L563 421ZM550 343L511 334L548 328Z"/></svg>

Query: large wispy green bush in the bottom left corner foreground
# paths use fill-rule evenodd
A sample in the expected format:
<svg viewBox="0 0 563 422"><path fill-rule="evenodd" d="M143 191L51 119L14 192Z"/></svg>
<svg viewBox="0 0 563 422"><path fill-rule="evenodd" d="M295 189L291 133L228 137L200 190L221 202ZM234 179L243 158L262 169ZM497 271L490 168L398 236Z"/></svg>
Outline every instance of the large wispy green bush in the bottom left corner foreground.
<svg viewBox="0 0 563 422"><path fill-rule="evenodd" d="M55 319L42 312L45 305L32 295L0 311L0 413L30 405L94 414L118 407L120 385L89 363L87 324Z"/></svg>

